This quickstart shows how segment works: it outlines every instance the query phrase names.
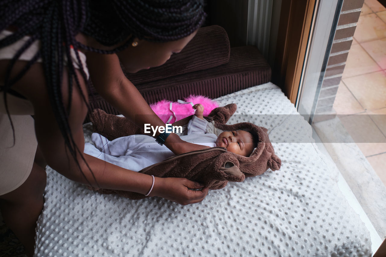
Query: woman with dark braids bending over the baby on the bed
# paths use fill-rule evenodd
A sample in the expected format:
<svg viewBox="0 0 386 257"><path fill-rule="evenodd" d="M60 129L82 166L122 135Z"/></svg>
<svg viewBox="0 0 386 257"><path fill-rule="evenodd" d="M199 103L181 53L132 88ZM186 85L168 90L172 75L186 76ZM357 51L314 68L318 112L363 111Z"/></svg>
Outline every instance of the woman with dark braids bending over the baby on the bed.
<svg viewBox="0 0 386 257"><path fill-rule="evenodd" d="M82 129L89 76L98 93L139 127L165 125L120 63L135 73L180 52L203 22L202 1L9 2L0 2L0 208L27 254L43 207L46 164L91 186L182 205L202 201L208 189L196 182L153 179L84 154ZM203 147L176 134L164 143L175 154Z"/></svg>

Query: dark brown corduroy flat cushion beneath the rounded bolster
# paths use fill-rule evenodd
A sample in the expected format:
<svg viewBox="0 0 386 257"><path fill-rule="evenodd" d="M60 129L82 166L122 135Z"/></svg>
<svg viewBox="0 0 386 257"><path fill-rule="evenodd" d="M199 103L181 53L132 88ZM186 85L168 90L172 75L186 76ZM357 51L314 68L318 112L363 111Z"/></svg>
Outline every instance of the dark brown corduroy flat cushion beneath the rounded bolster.
<svg viewBox="0 0 386 257"><path fill-rule="evenodd" d="M271 67L255 46L232 47L229 62L212 69L137 84L147 103L159 100L176 101L189 95L218 98L223 95L271 81ZM95 89L90 97L91 109L120 114Z"/></svg>

